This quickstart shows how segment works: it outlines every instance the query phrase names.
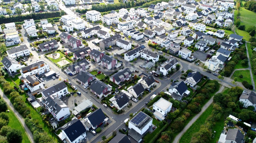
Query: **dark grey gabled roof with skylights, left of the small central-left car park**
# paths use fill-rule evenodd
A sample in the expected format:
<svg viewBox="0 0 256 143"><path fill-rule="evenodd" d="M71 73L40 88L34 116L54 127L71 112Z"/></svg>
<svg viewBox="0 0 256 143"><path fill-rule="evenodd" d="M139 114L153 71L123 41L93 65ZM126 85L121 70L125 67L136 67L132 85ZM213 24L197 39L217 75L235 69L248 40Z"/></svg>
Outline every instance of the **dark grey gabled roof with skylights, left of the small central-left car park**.
<svg viewBox="0 0 256 143"><path fill-rule="evenodd" d="M57 83L56 85L53 85L52 87L49 87L45 90L42 91L42 93L45 95L45 97L49 97L50 95L66 88L67 85L62 81L62 82L59 82ZM68 91L67 91L68 92Z"/></svg>

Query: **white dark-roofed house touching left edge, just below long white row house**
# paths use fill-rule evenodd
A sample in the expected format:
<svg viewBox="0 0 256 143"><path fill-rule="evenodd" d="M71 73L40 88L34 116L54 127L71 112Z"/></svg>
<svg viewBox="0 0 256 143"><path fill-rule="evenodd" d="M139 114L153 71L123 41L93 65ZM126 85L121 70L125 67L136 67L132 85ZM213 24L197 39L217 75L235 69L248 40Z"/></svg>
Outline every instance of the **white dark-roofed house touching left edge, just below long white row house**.
<svg viewBox="0 0 256 143"><path fill-rule="evenodd" d="M25 65L19 64L19 62L10 57L4 57L1 62L3 63L5 69L11 74L16 73L18 70L20 70L20 68L25 67Z"/></svg>

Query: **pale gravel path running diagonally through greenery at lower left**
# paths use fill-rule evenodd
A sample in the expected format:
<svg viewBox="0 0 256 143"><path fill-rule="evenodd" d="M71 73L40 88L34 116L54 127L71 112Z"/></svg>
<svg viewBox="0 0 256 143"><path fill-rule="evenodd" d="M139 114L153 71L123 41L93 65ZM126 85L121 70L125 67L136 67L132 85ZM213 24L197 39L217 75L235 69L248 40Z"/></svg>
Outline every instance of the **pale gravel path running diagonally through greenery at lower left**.
<svg viewBox="0 0 256 143"><path fill-rule="evenodd" d="M13 107L13 104L10 102L10 100L6 97L6 95L3 93L2 90L0 90L0 95L2 95L2 98L4 99L4 101L7 103L7 105L11 108L11 110L13 110L15 116L19 119L19 121L21 122L21 124L23 125L23 127L25 128L26 134L28 135L29 140L34 143L33 140L33 134L32 132L29 130L28 126L25 124L24 118L19 114L19 112Z"/></svg>

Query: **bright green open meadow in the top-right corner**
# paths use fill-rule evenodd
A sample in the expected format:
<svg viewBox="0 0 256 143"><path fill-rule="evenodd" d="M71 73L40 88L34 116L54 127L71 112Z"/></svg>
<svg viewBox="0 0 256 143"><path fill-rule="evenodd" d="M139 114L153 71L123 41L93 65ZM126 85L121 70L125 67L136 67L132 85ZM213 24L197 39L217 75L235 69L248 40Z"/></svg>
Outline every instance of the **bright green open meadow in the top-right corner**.
<svg viewBox="0 0 256 143"><path fill-rule="evenodd" d="M240 14L241 14L240 15L240 20L241 20L240 25L245 25L245 27L246 27L245 29L247 29L250 25L256 26L256 23L254 21L254 17L256 17L256 13L243 8L242 6L244 3L245 3L245 1L241 1L241 7L239 9ZM236 19L237 19L237 10L235 10L235 12L234 12L234 20L236 21ZM245 39L247 41L249 40L250 35L247 31L239 30L237 28L235 31L238 35L244 36L243 39Z"/></svg>

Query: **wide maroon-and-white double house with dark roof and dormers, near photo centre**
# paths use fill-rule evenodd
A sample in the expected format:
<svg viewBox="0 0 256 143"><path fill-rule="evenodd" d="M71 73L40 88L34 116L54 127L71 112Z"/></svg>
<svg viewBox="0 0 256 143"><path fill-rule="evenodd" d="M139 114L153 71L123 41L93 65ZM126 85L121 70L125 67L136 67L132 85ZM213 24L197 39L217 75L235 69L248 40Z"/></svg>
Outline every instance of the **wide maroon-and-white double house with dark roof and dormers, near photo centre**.
<svg viewBox="0 0 256 143"><path fill-rule="evenodd" d="M132 76L132 72L129 68L124 68L111 76L109 78L110 81L114 82L115 84L119 85L121 82L130 80Z"/></svg>

